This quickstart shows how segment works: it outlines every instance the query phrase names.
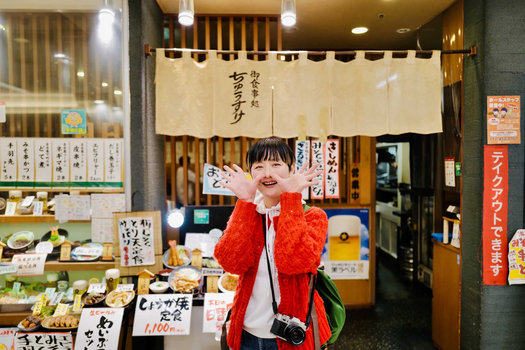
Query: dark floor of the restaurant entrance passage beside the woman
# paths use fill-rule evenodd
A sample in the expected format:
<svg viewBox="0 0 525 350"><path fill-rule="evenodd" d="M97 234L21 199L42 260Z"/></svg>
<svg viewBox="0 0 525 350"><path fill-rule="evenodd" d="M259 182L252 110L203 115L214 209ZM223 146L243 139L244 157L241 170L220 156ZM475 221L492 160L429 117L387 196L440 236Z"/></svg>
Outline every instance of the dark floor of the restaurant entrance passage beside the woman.
<svg viewBox="0 0 525 350"><path fill-rule="evenodd" d="M413 289L384 264L379 265L376 305L372 309L346 311L338 349L434 350L431 291Z"/></svg>

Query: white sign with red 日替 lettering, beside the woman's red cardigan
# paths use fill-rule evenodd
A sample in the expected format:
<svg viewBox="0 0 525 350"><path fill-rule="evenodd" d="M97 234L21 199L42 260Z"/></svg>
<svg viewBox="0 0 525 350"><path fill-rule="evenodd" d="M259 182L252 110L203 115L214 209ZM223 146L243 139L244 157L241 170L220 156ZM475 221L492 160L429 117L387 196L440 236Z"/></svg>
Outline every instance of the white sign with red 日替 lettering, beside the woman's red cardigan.
<svg viewBox="0 0 525 350"><path fill-rule="evenodd" d="M217 323L220 323L220 327L222 327L222 324L226 321L228 310L232 309L233 297L234 293L204 294L203 333L215 333Z"/></svg>

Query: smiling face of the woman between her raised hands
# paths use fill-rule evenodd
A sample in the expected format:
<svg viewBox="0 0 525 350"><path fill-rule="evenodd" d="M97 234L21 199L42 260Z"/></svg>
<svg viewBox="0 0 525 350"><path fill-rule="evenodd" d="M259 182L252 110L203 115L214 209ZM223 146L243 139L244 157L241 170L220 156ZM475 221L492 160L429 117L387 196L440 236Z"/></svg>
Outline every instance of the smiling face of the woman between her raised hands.
<svg viewBox="0 0 525 350"><path fill-rule="evenodd" d="M261 174L264 175L257 184L257 189L263 196L275 198L282 194L282 189L275 179L271 177L270 173L277 174L282 178L288 178L293 174L294 168L295 164L292 164L290 171L288 165L279 158L277 161L266 160L254 163L251 166L250 174L252 178L256 178Z"/></svg>

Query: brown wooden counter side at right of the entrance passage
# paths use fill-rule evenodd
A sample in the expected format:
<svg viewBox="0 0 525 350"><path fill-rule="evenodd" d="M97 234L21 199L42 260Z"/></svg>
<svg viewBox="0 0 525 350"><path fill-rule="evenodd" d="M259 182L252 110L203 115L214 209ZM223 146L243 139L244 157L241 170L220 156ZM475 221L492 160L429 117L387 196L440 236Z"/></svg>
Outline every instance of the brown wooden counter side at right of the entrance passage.
<svg viewBox="0 0 525 350"><path fill-rule="evenodd" d="M432 340L443 350L459 349L460 250L434 243Z"/></svg>

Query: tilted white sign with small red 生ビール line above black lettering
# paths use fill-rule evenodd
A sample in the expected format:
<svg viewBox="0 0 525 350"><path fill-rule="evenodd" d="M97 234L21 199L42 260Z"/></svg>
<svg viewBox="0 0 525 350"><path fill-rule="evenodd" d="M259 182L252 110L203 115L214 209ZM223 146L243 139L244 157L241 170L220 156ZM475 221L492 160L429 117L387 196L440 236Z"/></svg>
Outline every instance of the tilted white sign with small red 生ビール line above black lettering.
<svg viewBox="0 0 525 350"><path fill-rule="evenodd" d="M75 347L83 350L117 350L123 315L122 307L82 310Z"/></svg>

